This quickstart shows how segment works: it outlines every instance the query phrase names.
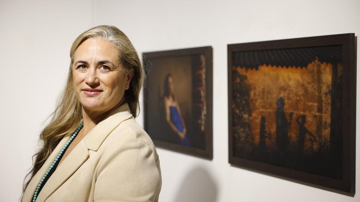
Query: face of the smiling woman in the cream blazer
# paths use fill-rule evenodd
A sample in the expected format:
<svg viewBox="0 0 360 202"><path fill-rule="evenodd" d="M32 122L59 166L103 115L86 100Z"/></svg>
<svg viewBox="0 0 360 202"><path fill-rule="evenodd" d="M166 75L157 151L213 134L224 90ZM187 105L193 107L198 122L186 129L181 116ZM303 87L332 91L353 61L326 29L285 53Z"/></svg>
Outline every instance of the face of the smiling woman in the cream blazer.
<svg viewBox="0 0 360 202"><path fill-rule="evenodd" d="M72 66L74 91L84 109L106 112L122 99L133 70L125 74L118 50L101 38L84 41L75 51Z"/></svg>

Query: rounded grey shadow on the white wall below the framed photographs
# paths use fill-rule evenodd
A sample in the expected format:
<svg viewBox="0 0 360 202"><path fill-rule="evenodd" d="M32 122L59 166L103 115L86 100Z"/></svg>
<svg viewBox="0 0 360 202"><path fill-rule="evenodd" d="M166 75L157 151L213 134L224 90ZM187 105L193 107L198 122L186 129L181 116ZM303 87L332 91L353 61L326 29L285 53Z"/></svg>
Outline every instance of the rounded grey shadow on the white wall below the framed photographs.
<svg viewBox="0 0 360 202"><path fill-rule="evenodd" d="M185 176L174 202L215 202L216 198L217 187L208 171L195 167Z"/></svg>

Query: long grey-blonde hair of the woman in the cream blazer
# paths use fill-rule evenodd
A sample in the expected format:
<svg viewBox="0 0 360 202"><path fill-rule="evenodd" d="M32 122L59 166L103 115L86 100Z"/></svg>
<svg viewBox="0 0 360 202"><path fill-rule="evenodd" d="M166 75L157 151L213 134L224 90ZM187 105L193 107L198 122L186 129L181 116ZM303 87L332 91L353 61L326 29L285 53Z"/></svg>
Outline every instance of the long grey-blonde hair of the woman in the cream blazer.
<svg viewBox="0 0 360 202"><path fill-rule="evenodd" d="M80 124L82 119L81 104L77 100L73 87L72 65L76 49L89 38L100 37L111 42L119 52L119 58L125 74L134 69L134 76L131 79L130 87L125 91L125 102L129 104L131 114L136 117L139 108L140 89L144 82L144 69L141 65L139 56L132 46L129 38L117 27L101 25L91 28L76 38L70 50L70 66L66 86L61 94L60 101L54 112L48 117L51 121L40 133L40 141L43 142L41 149L33 155L36 156L35 163L31 171L26 175L23 185L23 193L30 180L37 173L40 167L48 159L50 153L54 150L60 140L68 133L71 133ZM28 175L30 178L25 183ZM21 196L22 198L22 196Z"/></svg>

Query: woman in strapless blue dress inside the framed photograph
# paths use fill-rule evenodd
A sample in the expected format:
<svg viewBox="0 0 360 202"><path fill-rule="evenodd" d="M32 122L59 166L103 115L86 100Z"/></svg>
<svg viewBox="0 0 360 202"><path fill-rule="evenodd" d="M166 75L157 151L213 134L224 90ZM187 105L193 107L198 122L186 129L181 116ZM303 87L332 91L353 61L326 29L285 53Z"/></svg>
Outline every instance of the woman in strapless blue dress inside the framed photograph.
<svg viewBox="0 0 360 202"><path fill-rule="evenodd" d="M190 147L190 141L186 136L186 127L180 107L174 96L174 82L171 74L168 74L164 82L164 108L166 123L179 137L179 144Z"/></svg>

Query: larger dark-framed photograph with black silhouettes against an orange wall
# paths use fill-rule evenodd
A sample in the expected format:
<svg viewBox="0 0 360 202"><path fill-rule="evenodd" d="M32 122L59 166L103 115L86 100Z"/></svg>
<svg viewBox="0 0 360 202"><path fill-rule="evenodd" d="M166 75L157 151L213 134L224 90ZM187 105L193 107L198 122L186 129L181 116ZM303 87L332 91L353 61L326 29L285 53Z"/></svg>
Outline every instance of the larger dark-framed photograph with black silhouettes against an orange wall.
<svg viewBox="0 0 360 202"><path fill-rule="evenodd" d="M354 33L228 45L229 162L355 193Z"/></svg>

